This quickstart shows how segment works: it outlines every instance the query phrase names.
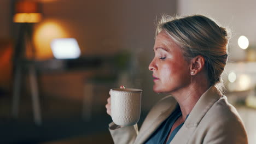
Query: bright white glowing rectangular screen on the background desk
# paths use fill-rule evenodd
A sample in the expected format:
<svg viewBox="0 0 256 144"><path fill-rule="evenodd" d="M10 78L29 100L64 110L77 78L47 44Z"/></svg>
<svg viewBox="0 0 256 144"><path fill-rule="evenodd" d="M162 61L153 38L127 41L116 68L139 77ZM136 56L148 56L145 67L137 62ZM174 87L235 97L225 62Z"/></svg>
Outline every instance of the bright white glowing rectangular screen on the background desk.
<svg viewBox="0 0 256 144"><path fill-rule="evenodd" d="M57 59L72 59L80 56L77 40L74 38L54 39L51 42L51 50Z"/></svg>

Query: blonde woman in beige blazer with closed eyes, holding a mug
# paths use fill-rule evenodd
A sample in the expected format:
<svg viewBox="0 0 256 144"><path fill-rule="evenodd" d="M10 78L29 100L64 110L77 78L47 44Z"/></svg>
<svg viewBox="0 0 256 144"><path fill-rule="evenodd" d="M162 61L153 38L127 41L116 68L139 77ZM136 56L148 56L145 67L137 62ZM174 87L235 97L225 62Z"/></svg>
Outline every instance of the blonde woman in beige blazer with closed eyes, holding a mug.
<svg viewBox="0 0 256 144"><path fill-rule="evenodd" d="M163 16L149 64L154 92L166 93L136 127L109 124L115 143L248 143L234 106L222 94L225 28L202 16ZM111 115L110 98L107 113ZM138 132L138 133L137 133Z"/></svg>

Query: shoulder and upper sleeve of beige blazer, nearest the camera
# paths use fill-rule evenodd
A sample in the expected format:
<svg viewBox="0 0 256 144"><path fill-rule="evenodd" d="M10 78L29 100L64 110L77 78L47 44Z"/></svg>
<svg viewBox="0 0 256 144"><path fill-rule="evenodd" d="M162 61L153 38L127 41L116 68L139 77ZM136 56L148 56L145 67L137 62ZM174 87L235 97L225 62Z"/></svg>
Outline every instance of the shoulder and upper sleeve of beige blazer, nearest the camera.
<svg viewBox="0 0 256 144"><path fill-rule="evenodd" d="M222 96L208 110L199 128L201 133L205 133L206 143L213 141L247 143L247 134L242 119L225 96Z"/></svg>

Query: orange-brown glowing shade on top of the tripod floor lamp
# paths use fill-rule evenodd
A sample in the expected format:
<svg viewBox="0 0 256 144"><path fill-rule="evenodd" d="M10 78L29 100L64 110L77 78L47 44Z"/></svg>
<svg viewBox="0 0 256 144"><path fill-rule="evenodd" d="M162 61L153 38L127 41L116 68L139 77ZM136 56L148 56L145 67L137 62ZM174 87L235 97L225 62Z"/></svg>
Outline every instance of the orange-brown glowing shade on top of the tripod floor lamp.
<svg viewBox="0 0 256 144"><path fill-rule="evenodd" d="M19 23L40 22L42 19L42 14L40 13L40 11L40 5L36 1L16 1L13 21Z"/></svg>

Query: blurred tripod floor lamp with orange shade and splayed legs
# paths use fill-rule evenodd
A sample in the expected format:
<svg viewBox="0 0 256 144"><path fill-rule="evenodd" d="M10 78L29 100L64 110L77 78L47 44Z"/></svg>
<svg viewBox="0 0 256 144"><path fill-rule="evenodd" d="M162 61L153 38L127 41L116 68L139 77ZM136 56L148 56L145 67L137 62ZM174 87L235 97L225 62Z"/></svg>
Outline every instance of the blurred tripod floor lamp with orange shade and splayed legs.
<svg viewBox="0 0 256 144"><path fill-rule="evenodd" d="M42 117L39 106L36 68L34 65L36 49L32 40L32 32L33 23L40 22L42 14L40 13L40 5L36 1L19 0L15 1L14 6L15 14L13 22L19 26L19 32L13 55L14 84L12 115L14 118L18 118L21 86L22 82L25 82L25 79L22 78L27 73L30 80L34 122L40 125L42 123Z"/></svg>

